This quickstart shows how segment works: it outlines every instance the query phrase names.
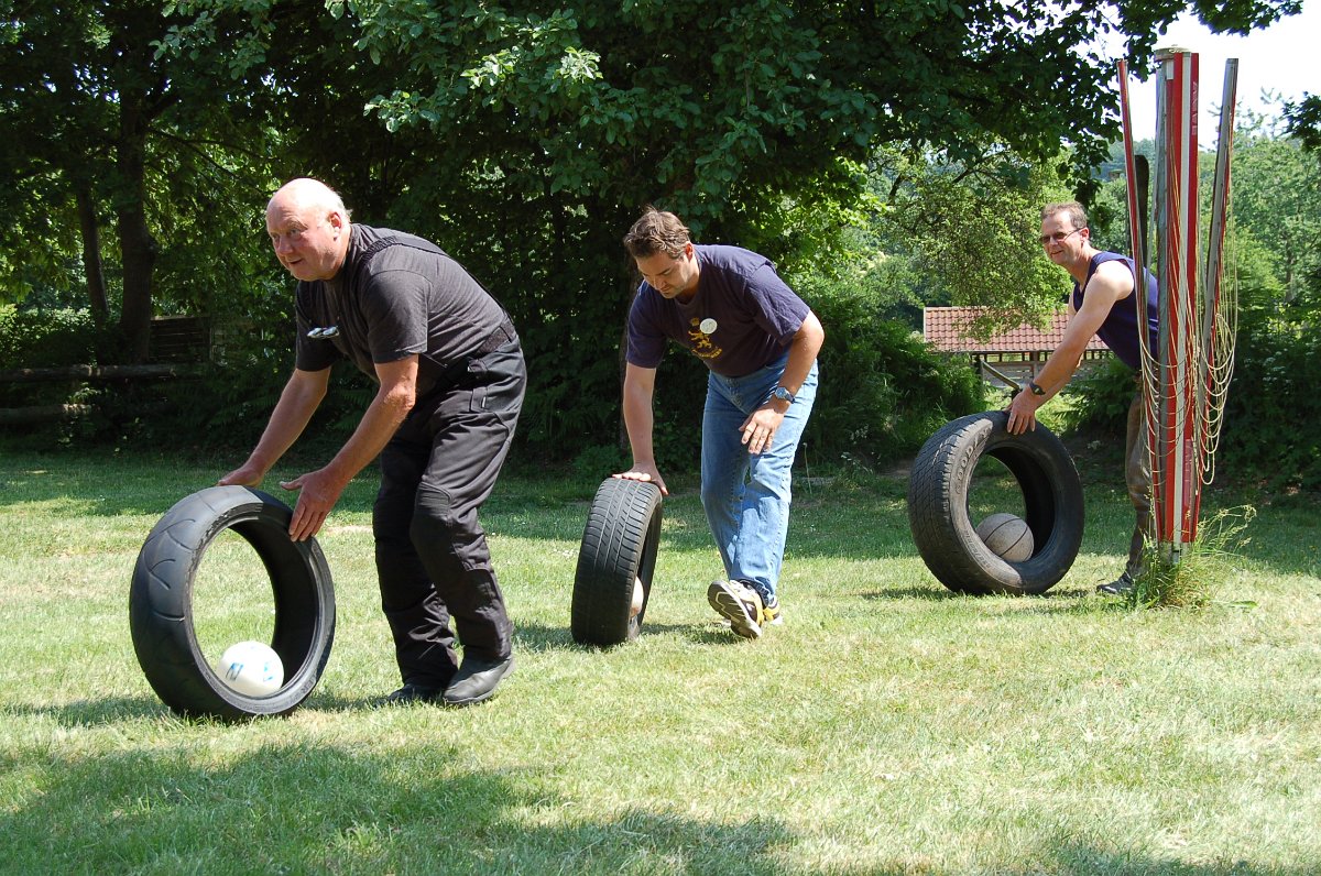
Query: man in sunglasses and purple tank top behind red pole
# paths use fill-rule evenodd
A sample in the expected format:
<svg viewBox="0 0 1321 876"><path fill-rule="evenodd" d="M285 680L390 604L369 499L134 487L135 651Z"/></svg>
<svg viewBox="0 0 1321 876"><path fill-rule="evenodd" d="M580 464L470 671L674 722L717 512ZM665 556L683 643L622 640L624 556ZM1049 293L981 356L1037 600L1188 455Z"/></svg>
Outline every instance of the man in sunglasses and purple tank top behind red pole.
<svg viewBox="0 0 1321 876"><path fill-rule="evenodd" d="M1009 432L1022 435L1037 428L1037 408L1065 388L1078 370L1087 342L1100 336L1124 365L1141 370L1143 336L1139 329L1137 307L1133 303L1133 263L1116 254L1102 252L1091 244L1087 214L1081 203L1048 203L1041 210L1041 246L1046 255L1069 271L1074 280L1069 300L1069 328L1059 338L1059 346L1041 369L1034 381L1028 381L1024 391L1009 404ZM1156 279L1147 274L1145 307L1141 325L1147 329L1147 345L1156 345ZM1124 481L1128 498L1136 511L1133 535L1128 542L1128 564L1123 573L1098 591L1111 596L1125 593L1133 579L1143 572L1143 544L1151 525L1152 470L1147 455L1147 421L1143 416L1143 392L1139 387L1128 406L1128 427L1124 439Z"/></svg>

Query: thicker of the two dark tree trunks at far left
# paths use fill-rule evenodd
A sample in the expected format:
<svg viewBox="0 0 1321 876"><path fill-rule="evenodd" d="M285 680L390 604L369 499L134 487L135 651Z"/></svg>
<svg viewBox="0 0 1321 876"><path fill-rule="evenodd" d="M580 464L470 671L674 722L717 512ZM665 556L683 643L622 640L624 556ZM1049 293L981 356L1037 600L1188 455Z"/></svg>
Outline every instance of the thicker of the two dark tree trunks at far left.
<svg viewBox="0 0 1321 876"><path fill-rule="evenodd" d="M129 362L144 362L148 355L152 320L152 268L159 244L147 227L147 118L132 95L120 95L119 197L115 214L119 225L119 248L124 266L124 308L119 328L124 336Z"/></svg>

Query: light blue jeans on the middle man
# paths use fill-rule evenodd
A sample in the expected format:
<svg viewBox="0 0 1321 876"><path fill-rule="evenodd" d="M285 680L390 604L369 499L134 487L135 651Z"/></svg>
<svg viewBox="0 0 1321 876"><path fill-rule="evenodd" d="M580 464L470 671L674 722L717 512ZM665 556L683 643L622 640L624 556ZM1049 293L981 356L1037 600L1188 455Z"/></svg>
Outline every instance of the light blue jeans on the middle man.
<svg viewBox="0 0 1321 876"><path fill-rule="evenodd" d="M816 399L816 365L789 406L769 451L749 453L738 427L770 398L787 358L745 377L712 371L701 418L701 507L727 577L752 584L764 600L775 596L785 559L794 456Z"/></svg>

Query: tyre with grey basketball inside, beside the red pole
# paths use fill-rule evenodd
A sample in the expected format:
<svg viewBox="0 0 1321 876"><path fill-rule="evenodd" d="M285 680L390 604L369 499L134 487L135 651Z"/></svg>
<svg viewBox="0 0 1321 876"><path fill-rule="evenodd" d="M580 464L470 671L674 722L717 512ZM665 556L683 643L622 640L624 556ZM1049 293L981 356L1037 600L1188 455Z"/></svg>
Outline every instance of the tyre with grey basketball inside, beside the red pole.
<svg viewBox="0 0 1321 876"><path fill-rule="evenodd" d="M1008 419L1004 411L987 411L952 420L913 461L913 540L931 573L958 593L1044 593L1069 572L1082 546L1082 484L1069 451L1040 423L1009 435ZM983 456L1000 460L1022 490L1034 548L1021 563L992 554L968 518L968 488Z"/></svg>

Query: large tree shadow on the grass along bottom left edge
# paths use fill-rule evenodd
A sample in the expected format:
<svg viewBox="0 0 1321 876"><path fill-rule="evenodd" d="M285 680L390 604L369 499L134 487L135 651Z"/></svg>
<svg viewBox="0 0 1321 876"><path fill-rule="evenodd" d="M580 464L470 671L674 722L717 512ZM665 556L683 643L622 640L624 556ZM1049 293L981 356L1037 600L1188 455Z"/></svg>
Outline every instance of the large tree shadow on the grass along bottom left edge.
<svg viewBox="0 0 1321 876"><path fill-rule="evenodd" d="M433 740L388 756L321 745L194 754L156 747L29 762L30 790L0 810L4 867L774 873L797 842L766 817L704 822L634 806L583 817L557 791L555 766L470 769L472 752Z"/></svg>

